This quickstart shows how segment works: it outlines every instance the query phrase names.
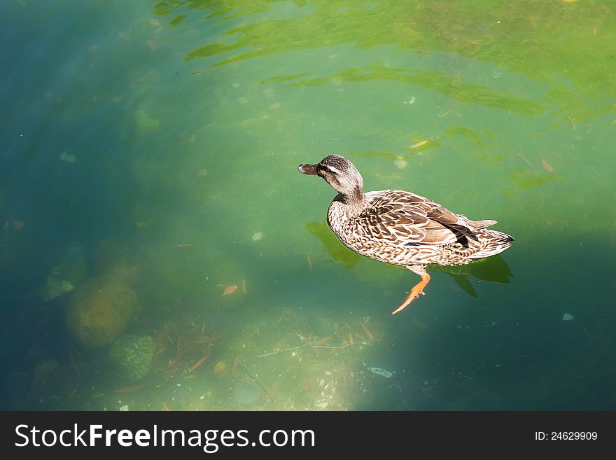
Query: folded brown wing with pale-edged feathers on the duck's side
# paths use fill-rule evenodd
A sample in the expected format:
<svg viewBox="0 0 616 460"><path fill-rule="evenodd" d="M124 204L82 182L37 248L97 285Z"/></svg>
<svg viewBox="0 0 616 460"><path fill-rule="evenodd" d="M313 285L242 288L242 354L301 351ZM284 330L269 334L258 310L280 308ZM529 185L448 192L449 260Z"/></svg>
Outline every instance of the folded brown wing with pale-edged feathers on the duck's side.
<svg viewBox="0 0 616 460"><path fill-rule="evenodd" d="M432 244L440 246L453 242L468 244L467 238L477 240L473 230L493 221L469 221L428 200L403 190L380 190L366 193L370 208L358 219L369 228L372 237L395 244Z"/></svg>

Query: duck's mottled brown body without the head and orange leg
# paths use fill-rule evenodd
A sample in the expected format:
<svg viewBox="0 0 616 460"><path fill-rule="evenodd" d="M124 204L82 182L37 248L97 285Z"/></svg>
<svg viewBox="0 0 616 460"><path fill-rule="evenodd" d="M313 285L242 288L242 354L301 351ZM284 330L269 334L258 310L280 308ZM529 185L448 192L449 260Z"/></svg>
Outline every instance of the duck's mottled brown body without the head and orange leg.
<svg viewBox="0 0 616 460"><path fill-rule="evenodd" d="M362 256L419 274L428 264L458 265L493 256L513 242L510 235L486 228L496 221L471 221L404 190L368 192L365 200L360 213L333 200L328 209L332 232Z"/></svg>

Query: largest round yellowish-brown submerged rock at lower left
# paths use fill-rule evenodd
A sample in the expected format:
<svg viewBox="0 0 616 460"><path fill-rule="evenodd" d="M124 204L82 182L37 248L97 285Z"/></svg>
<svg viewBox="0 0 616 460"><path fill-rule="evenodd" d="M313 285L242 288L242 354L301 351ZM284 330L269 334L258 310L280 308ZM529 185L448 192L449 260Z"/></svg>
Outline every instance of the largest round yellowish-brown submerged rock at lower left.
<svg viewBox="0 0 616 460"><path fill-rule="evenodd" d="M137 295L123 279L101 275L73 291L66 306L66 326L83 348L109 347L138 306Z"/></svg>

